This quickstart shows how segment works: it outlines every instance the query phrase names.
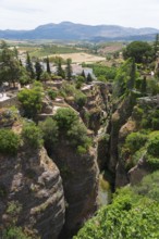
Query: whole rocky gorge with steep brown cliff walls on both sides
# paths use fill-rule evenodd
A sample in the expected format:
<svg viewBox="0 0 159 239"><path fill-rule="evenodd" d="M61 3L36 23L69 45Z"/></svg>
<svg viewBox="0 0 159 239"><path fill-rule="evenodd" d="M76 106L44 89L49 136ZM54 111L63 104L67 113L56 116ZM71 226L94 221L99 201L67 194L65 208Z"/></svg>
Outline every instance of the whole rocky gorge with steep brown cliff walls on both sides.
<svg viewBox="0 0 159 239"><path fill-rule="evenodd" d="M33 150L26 147L15 156L0 155L2 230L13 225L22 227L28 238L72 238L99 206L101 172L112 191L130 183L136 184L148 174L144 156L127 167L121 149L126 136L138 130L136 109L157 108L158 100L139 98L132 91L120 103L112 104L110 88L99 83L85 86L82 91L87 96L84 106L66 102L78 112L93 139L86 152L77 153L70 141L60 136L56 148L46 146L46 149ZM46 100L44 104L50 109L46 112L44 106L47 117L52 104ZM4 117L4 110L2 114ZM5 125L15 130L15 122L7 117Z"/></svg>

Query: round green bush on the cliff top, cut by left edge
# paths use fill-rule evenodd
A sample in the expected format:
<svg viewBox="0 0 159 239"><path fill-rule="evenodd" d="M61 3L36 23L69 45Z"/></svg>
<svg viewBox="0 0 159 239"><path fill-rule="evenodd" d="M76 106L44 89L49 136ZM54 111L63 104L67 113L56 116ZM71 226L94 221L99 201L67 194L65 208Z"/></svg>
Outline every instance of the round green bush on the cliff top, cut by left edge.
<svg viewBox="0 0 159 239"><path fill-rule="evenodd" d="M14 155L20 147L20 136L10 129L0 129L0 153Z"/></svg>

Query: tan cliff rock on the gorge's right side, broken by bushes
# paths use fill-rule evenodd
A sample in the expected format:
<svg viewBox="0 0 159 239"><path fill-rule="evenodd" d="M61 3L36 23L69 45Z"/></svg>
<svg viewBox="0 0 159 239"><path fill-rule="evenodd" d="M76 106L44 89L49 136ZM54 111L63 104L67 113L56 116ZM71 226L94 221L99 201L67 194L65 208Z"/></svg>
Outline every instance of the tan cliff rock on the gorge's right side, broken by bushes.
<svg viewBox="0 0 159 239"><path fill-rule="evenodd" d="M133 131L140 130L140 113L143 115L150 116L151 112L156 109L158 109L159 101L157 97L144 97L137 99L137 104L132 109L132 112L130 112L130 117L126 120L125 124L122 125L122 127L119 130L118 136L118 152L122 149L122 146L126 139L126 136ZM140 109L138 111L137 109ZM120 153L119 153L120 154ZM137 184L139 183L145 175L149 173L148 165L145 160L145 155L140 156L138 159L138 163L134 166L132 166L131 169L125 169L125 159L122 159L120 155L118 156L118 164L117 164L117 171L115 171L115 186L121 187L126 184Z"/></svg>

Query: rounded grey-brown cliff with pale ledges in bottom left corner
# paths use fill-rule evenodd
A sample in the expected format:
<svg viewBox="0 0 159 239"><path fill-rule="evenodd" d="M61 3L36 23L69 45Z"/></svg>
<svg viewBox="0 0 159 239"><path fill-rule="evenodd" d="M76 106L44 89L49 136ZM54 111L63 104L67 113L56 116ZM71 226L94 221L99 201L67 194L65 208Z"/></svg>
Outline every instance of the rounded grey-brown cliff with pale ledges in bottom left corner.
<svg viewBox="0 0 159 239"><path fill-rule="evenodd" d="M46 150L0 155L0 168L2 229L14 223L42 239L58 238L64 224L63 187Z"/></svg>

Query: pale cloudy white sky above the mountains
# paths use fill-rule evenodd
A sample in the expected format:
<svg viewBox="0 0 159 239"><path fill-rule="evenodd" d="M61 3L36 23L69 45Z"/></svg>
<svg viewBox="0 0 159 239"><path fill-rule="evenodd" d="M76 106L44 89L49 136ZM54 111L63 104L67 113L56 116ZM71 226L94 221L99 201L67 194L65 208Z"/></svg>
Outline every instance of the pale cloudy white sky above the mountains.
<svg viewBox="0 0 159 239"><path fill-rule="evenodd" d="M0 29L64 21L159 28L159 0L0 0Z"/></svg>

